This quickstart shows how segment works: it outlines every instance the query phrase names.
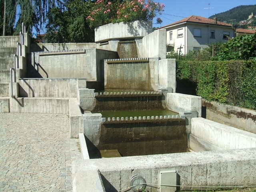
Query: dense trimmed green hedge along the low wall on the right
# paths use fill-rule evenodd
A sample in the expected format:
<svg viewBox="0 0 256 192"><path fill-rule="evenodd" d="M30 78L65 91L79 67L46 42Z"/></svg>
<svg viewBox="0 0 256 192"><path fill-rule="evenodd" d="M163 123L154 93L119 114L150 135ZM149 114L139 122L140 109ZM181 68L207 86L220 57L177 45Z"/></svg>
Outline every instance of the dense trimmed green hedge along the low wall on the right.
<svg viewBox="0 0 256 192"><path fill-rule="evenodd" d="M256 60L178 61L176 74L206 100L256 108Z"/></svg>

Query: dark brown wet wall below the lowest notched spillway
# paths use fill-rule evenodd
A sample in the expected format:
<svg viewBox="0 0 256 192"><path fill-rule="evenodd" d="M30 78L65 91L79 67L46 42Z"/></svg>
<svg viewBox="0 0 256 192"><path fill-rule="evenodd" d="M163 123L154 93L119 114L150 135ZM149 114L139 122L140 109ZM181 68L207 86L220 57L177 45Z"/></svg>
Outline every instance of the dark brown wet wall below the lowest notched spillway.
<svg viewBox="0 0 256 192"><path fill-rule="evenodd" d="M122 156L186 152L185 120L137 120L101 126L99 150L117 149Z"/></svg>

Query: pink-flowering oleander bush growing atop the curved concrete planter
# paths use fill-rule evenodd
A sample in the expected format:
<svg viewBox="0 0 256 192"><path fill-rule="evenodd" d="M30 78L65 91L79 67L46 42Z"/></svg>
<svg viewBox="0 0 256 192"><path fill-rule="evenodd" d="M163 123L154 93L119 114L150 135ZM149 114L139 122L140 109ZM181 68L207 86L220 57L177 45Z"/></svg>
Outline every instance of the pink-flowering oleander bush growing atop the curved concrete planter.
<svg viewBox="0 0 256 192"><path fill-rule="evenodd" d="M87 20L92 27L116 22L152 21L163 10L164 4L153 0L124 0L122 2L97 0ZM161 22L161 19L159 18L158 21Z"/></svg>

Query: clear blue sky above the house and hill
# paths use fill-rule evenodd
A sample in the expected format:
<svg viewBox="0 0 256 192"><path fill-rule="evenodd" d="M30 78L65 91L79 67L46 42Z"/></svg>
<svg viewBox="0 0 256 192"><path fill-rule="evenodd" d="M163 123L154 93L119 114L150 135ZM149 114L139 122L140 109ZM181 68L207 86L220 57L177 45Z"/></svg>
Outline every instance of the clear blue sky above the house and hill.
<svg viewBox="0 0 256 192"><path fill-rule="evenodd" d="M240 5L255 5L256 0L155 0L156 2L164 3L165 8L162 15L160 17L163 22L162 24L154 24L155 27L160 27L164 25L168 25L172 22L176 22L178 20L183 19L182 17L188 17L191 15L203 16L208 18L208 10L204 9L209 7L213 7L210 9L210 16L230 10L236 6ZM256 10L255 10L256 12ZM171 14L175 16L165 15ZM181 17L177 17L181 16ZM154 19L154 22L155 19ZM153 22L153 23L154 23Z"/></svg>

